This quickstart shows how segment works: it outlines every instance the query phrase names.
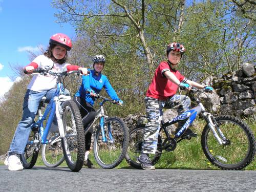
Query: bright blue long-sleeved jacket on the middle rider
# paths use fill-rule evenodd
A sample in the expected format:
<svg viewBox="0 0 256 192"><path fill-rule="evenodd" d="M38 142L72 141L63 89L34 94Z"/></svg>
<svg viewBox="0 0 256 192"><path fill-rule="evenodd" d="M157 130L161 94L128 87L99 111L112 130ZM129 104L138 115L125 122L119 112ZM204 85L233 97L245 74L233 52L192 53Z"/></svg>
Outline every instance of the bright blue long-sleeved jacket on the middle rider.
<svg viewBox="0 0 256 192"><path fill-rule="evenodd" d="M94 70L89 69L89 71L91 72L89 75L82 76L82 84L75 96L86 99L86 101L93 106L95 98L92 97L90 93L86 93L86 90L92 89L95 93L100 93L102 88L104 88L106 93L108 93L113 100L120 100L105 75L101 73L96 75Z"/></svg>

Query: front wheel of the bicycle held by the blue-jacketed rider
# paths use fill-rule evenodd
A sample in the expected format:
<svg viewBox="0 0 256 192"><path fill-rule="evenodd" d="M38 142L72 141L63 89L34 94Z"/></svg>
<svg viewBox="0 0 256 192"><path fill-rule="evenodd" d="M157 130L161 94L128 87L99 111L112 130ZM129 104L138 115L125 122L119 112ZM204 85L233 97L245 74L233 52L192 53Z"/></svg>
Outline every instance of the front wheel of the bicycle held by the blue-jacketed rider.
<svg viewBox="0 0 256 192"><path fill-rule="evenodd" d="M102 168L114 168L123 160L129 143L129 131L119 117L111 117L104 122L106 141L102 141L100 127L94 138L94 156Z"/></svg>

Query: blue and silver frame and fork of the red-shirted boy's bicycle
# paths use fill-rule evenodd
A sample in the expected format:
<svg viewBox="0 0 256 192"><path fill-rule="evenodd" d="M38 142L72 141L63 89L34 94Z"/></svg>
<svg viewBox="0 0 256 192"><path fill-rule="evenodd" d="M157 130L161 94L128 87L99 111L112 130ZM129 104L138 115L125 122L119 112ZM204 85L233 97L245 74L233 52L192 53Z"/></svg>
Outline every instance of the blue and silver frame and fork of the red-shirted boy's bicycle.
<svg viewBox="0 0 256 192"><path fill-rule="evenodd" d="M196 90L194 90L194 91L196 91ZM219 129L219 127L215 121L215 118L210 113L205 111L203 104L201 103L201 101L198 99L197 96L195 96L194 99L198 104L197 106L195 106L194 108L192 108L190 110L185 111L181 115L179 115L165 123L163 121L161 122L161 129L163 129L166 137L168 139L170 139L170 136L166 129L167 126L177 123L179 121L184 121L185 119L187 119L185 124L175 134L174 139L177 141L184 134L184 132L188 129L189 125L191 125L191 123L193 123L193 121L196 119L196 117L201 114L203 116L203 118L205 119L205 121L207 122L207 125L210 127L212 133L214 134L214 137L219 142L219 144L226 144L227 139L225 138L225 136ZM220 136L218 135L217 132L219 133ZM181 141L181 140L178 140L177 143L179 141Z"/></svg>

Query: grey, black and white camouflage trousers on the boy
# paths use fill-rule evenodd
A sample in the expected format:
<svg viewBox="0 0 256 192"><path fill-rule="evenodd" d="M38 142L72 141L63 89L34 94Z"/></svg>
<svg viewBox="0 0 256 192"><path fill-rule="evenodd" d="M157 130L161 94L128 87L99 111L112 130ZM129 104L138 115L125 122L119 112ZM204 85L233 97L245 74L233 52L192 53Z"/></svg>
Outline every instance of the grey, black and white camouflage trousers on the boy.
<svg viewBox="0 0 256 192"><path fill-rule="evenodd" d="M144 129L141 153L155 154L158 135L163 116L163 108L175 108L181 114L190 107L190 98L185 95L174 95L166 101L145 97L147 124Z"/></svg>

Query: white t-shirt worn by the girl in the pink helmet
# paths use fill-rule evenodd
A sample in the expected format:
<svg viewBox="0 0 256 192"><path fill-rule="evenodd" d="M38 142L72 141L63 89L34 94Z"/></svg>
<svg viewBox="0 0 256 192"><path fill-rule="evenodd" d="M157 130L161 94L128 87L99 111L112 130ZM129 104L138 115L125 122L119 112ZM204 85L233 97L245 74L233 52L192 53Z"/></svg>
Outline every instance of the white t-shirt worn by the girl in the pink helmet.
<svg viewBox="0 0 256 192"><path fill-rule="evenodd" d="M38 65L38 68L51 69L51 71L54 72L66 71L65 68L70 65L69 63L59 64L53 62L52 59L45 55L37 56L32 62L35 62ZM46 68L46 66L49 67ZM27 88L37 92L50 90L56 88L57 79L58 78L53 75L36 74L33 76Z"/></svg>

